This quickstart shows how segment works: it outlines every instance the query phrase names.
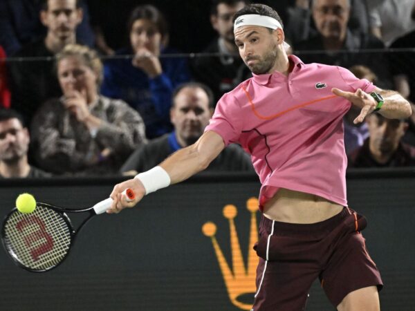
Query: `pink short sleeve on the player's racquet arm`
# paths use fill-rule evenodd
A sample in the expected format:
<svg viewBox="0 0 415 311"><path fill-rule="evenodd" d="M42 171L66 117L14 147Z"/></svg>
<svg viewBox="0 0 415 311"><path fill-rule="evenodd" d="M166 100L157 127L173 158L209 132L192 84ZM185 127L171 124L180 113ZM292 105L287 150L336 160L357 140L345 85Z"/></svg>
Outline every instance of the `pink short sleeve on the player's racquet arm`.
<svg viewBox="0 0 415 311"><path fill-rule="evenodd" d="M237 99L226 93L221 97L205 132L214 131L221 135L225 146L232 142L239 142L242 131L242 111Z"/></svg>

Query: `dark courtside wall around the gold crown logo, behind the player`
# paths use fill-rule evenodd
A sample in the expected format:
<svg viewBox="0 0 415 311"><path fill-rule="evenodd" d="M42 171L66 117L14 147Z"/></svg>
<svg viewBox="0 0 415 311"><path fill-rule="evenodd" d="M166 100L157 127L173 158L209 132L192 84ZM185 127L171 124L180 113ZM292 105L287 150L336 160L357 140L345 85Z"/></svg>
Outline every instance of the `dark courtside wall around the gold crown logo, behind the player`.
<svg viewBox="0 0 415 311"><path fill-rule="evenodd" d="M413 169L348 174L349 205L367 216L363 234L385 282L380 292L384 311L415 310L414 177ZM0 216L24 191L39 201L81 208L106 198L116 182L120 179L3 180ZM255 176L240 174L196 176L163 189L136 209L91 220L66 261L46 274L20 269L0 249L0 310L237 311L201 227L207 221L216 224L217 241L230 264L229 225L222 209L236 205L246 258L246 200L258 190ZM306 310L334 310L317 283L310 294ZM244 298L252 301L252 294Z"/></svg>

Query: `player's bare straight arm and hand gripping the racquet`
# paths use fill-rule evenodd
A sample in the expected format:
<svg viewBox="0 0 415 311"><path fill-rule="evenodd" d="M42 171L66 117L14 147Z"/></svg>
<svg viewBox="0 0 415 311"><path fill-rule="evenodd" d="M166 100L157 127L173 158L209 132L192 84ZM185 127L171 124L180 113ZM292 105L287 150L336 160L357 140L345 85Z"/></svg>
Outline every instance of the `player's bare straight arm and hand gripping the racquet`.
<svg viewBox="0 0 415 311"><path fill-rule="evenodd" d="M206 169L210 162L221 153L224 147L225 144L221 135L214 131L208 131L204 133L196 143L176 151L172 156L169 156L169 158L164 160L159 165L164 172L159 169L158 173L160 173L160 171L164 174L167 173L169 184L176 184L177 182L190 178L190 176ZM157 175L154 175L154 178L152 178L151 175L147 175L146 178L149 178L151 184L156 184L158 182ZM165 176L161 176L161 178L165 178ZM132 189L134 194L136 194L136 198L131 202L127 202L127 200L121 196L122 191L127 188ZM155 188L157 188L157 185L155 185ZM113 204L107 212L113 214L120 212L125 207L133 207L140 202L146 194L145 185L143 185L138 178L132 178L125 182L121 182L116 185L111 192L110 197L113 199Z"/></svg>

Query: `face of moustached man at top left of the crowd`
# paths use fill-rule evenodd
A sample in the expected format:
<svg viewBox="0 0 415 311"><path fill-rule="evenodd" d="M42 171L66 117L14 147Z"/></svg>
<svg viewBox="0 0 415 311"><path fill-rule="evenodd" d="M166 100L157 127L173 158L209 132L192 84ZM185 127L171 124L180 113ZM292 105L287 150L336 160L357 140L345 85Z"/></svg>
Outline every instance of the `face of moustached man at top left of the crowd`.
<svg viewBox="0 0 415 311"><path fill-rule="evenodd" d="M64 41L75 34L82 10L76 8L76 0L48 0L48 10L42 10L40 18L50 35Z"/></svg>

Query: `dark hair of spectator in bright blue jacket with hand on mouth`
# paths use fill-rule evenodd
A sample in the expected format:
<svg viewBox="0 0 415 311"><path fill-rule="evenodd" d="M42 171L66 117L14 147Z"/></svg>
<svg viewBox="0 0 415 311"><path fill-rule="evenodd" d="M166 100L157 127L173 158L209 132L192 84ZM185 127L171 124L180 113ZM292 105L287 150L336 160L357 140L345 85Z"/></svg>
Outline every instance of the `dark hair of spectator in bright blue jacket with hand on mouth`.
<svg viewBox="0 0 415 311"><path fill-rule="evenodd" d="M138 19L148 19L149 21L156 24L161 37L165 38L169 35L167 21L164 15L155 6L147 4L145 6L137 6L134 8L127 21L128 33L131 32L134 22Z"/></svg>

